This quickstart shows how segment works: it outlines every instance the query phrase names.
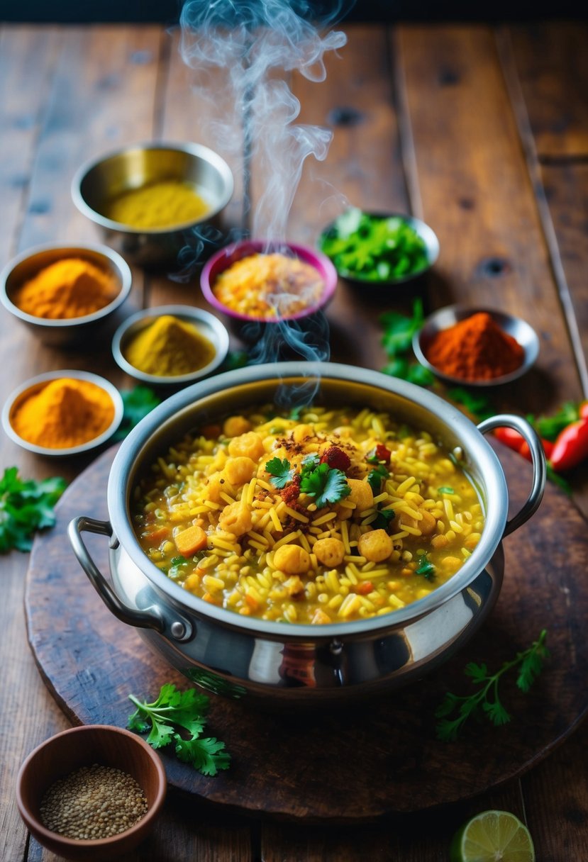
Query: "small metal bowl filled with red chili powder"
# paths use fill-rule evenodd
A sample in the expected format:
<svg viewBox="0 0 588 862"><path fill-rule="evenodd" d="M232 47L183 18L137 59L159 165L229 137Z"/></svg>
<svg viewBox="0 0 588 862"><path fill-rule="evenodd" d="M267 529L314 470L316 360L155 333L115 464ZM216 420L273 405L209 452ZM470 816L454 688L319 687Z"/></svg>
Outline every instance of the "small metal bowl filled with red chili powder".
<svg viewBox="0 0 588 862"><path fill-rule="evenodd" d="M535 330L520 317L462 305L435 311L412 345L430 372L467 386L510 383L528 372L539 354Z"/></svg>

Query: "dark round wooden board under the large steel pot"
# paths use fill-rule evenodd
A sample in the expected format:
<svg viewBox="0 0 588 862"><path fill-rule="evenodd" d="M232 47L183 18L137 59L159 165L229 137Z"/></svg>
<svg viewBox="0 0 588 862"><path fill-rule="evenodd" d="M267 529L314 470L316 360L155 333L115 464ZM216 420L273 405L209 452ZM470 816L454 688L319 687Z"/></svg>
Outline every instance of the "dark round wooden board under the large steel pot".
<svg viewBox="0 0 588 862"><path fill-rule="evenodd" d="M504 447L499 455L511 509L527 494L530 466ZM28 638L47 686L75 723L124 726L129 693L153 700L166 681L189 683L150 653L139 634L104 607L78 565L66 528L74 515L105 519L114 450L66 490L58 522L34 541L28 572ZM361 821L474 796L534 765L588 709L586 523L547 486L533 519L504 541L504 586L489 620L459 653L427 678L352 711L272 715L247 701L210 696L207 731L226 742L228 771L204 778L162 753L169 783L250 813L307 821ZM107 571L107 540L89 536ZM470 720L460 740L435 739L435 708L446 690L472 690L468 661L497 669L547 628L551 659L529 694L504 680L512 721L495 728ZM512 674L510 675L513 676Z"/></svg>

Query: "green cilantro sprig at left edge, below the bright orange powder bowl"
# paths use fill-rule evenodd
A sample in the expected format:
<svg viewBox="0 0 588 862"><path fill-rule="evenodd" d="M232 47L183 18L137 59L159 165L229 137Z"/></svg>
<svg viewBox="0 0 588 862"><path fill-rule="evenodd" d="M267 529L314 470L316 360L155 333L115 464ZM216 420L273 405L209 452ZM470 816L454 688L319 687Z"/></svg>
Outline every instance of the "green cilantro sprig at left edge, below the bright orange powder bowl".
<svg viewBox="0 0 588 862"><path fill-rule="evenodd" d="M66 480L22 479L18 467L7 467L0 479L0 553L15 547L30 551L36 530L53 527L53 507L66 489Z"/></svg>

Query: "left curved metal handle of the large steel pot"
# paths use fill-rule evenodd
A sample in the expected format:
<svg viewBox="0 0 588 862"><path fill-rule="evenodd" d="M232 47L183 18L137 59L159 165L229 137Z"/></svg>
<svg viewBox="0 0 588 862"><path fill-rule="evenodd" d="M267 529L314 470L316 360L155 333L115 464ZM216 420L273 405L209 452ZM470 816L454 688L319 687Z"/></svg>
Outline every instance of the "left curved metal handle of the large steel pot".
<svg viewBox="0 0 588 862"><path fill-rule="evenodd" d="M108 536L110 539L110 547L116 547L118 540L116 537L113 541L113 531L109 521L97 521L94 518L86 518L80 515L78 518L73 518L67 528L69 540L72 543L73 553L78 558L79 565L82 566L84 572L90 578L91 584L97 591L103 603L122 622L128 623L129 626L136 628L154 628L155 631L162 634L166 628L163 617L155 608L147 608L146 610L137 610L128 608L123 604L116 592L112 589L109 582L104 578L102 572L97 568L96 563L91 558L87 547L84 545L82 533L84 530L87 533L96 533L101 536Z"/></svg>

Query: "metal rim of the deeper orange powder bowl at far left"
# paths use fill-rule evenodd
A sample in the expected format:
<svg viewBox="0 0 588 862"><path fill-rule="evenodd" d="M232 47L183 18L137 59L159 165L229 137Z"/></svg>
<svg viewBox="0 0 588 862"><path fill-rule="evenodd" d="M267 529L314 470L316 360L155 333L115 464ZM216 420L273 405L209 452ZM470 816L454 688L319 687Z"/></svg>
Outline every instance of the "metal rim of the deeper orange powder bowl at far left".
<svg viewBox="0 0 588 862"><path fill-rule="evenodd" d="M7 282L12 272L16 269L18 265L22 264L25 260L29 258L34 258L37 254L59 251L63 251L66 253L64 254L64 258L72 257L77 252L94 252L102 256L103 258L108 259L110 263L115 267L116 275L120 283L120 289L112 302L108 305L104 305L103 308L98 309L97 311L93 311L91 315L83 315L81 317L63 317L56 319L47 317L36 317L35 315L29 315L27 311L22 311L22 309L19 309L19 307L15 305L15 303L13 303L10 299L7 290ZM41 266L40 272L42 268L43 267ZM114 248L103 246L100 243L91 242L78 243L75 246L64 246L61 243L46 242L40 246L28 248L26 251L17 254L16 257L9 260L9 262L3 267L2 272L0 272L0 301L3 303L4 308L7 309L7 311L9 311L11 315L15 315L15 317L18 317L19 320L22 320L26 323L33 323L35 326L47 327L47 329L68 329L82 326L87 323L97 322L103 317L106 317L111 314L111 312L116 311L116 309L120 308L122 303L128 297L132 285L133 275L131 273L130 267L127 261L122 257L122 255L116 252Z"/></svg>

